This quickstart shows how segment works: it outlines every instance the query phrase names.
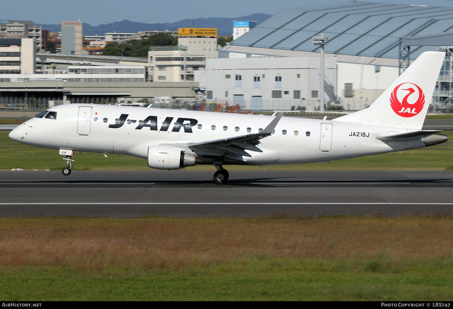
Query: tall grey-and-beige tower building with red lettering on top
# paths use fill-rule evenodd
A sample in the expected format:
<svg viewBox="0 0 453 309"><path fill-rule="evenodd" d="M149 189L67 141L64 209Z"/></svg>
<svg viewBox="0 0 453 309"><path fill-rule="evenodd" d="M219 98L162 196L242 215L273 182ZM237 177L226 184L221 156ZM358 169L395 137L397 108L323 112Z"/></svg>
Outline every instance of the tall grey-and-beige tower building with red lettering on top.
<svg viewBox="0 0 453 309"><path fill-rule="evenodd" d="M62 21L61 22L61 53L82 55L83 37L82 22Z"/></svg>

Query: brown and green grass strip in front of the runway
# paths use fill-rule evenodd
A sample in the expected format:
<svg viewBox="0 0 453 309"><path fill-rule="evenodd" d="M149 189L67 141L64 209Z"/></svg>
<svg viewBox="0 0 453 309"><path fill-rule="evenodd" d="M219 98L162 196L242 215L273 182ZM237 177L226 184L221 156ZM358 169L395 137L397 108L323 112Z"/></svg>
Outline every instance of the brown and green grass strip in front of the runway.
<svg viewBox="0 0 453 309"><path fill-rule="evenodd" d="M449 300L449 217L0 219L1 300Z"/></svg>

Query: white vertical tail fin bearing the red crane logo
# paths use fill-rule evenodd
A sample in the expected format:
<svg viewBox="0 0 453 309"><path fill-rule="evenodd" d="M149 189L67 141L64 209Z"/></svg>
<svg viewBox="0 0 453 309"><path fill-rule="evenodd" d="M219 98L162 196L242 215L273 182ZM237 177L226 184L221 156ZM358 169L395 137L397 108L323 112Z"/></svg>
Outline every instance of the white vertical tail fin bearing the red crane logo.
<svg viewBox="0 0 453 309"><path fill-rule="evenodd" d="M368 108L336 121L421 130L445 52L424 52Z"/></svg>

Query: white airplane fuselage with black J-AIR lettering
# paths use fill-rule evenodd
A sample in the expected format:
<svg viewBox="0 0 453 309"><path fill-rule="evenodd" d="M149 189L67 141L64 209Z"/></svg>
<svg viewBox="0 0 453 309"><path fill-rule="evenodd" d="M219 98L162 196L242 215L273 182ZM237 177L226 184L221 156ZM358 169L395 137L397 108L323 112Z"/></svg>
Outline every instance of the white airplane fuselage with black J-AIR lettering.
<svg viewBox="0 0 453 309"><path fill-rule="evenodd" d="M32 118L11 131L10 137L20 143L45 148L146 159L148 147L152 145L203 142L258 133L274 119L264 115L98 104L65 104L48 110L57 112L55 119ZM155 126L150 126L148 121L140 127L140 121L146 118L156 119ZM191 119L189 128L185 126L188 120L181 121L175 128L175 122L182 118ZM120 119L124 123L116 123ZM166 127L162 126L163 122L167 122ZM198 128L199 125L202 127ZM283 117L275 127L275 133L260 140L258 146L263 153L246 150L252 155L251 158L244 157L246 162L226 160L224 164L312 163L424 147L420 142L382 142L376 138L407 131L410 130ZM212 161L208 159L204 163L212 164Z"/></svg>

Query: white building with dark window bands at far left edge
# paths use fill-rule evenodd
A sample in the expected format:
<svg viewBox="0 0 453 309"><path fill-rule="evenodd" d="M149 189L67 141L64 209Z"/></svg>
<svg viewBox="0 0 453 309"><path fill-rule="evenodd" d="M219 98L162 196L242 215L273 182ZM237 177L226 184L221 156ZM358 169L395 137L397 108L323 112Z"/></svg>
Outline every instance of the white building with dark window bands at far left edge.
<svg viewBox="0 0 453 309"><path fill-rule="evenodd" d="M0 38L0 74L33 74L35 52L32 38Z"/></svg>

